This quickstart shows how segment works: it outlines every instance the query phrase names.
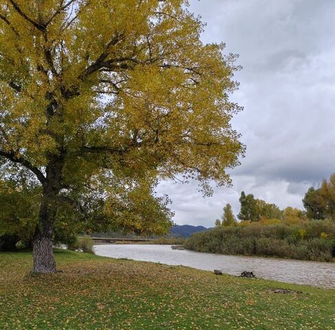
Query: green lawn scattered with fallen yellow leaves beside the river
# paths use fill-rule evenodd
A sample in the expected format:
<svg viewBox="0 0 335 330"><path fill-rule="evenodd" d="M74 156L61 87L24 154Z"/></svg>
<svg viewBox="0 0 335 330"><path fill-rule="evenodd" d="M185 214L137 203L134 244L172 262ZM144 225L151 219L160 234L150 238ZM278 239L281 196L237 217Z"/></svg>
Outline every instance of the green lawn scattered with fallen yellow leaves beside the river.
<svg viewBox="0 0 335 330"><path fill-rule="evenodd" d="M0 253L0 329L335 329L335 290L56 251ZM276 294L286 288L302 293Z"/></svg>

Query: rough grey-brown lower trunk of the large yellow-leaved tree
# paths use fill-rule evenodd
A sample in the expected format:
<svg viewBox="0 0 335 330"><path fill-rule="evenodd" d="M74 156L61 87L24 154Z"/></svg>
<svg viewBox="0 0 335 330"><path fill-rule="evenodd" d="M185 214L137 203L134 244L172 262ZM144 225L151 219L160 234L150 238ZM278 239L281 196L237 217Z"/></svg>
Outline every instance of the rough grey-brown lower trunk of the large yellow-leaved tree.
<svg viewBox="0 0 335 330"><path fill-rule="evenodd" d="M54 200L44 194L39 212L39 223L33 239L33 269L34 273L56 273L56 262L52 250L52 236L54 234L54 217L56 214Z"/></svg>

